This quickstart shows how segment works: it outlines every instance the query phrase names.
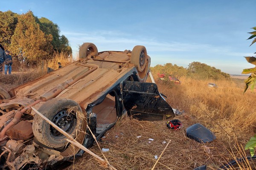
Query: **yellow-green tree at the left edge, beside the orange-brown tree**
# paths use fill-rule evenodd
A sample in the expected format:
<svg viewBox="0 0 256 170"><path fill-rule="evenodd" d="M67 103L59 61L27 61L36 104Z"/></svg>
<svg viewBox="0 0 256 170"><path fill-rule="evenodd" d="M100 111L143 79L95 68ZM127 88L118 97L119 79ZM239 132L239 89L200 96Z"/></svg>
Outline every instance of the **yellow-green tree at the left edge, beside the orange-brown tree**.
<svg viewBox="0 0 256 170"><path fill-rule="evenodd" d="M6 49L8 49L11 44L12 35L14 34L18 22L17 17L18 14L12 11L0 11L0 44Z"/></svg>

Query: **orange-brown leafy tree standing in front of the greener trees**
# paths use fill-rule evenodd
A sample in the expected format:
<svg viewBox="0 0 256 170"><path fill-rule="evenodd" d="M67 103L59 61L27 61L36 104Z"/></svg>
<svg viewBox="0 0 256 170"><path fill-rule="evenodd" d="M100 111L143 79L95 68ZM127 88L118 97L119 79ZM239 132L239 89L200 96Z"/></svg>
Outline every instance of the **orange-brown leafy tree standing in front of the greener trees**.
<svg viewBox="0 0 256 170"><path fill-rule="evenodd" d="M41 31L32 11L21 14L12 36L12 54L20 57L21 61L38 62L40 59L52 57L52 35Z"/></svg>

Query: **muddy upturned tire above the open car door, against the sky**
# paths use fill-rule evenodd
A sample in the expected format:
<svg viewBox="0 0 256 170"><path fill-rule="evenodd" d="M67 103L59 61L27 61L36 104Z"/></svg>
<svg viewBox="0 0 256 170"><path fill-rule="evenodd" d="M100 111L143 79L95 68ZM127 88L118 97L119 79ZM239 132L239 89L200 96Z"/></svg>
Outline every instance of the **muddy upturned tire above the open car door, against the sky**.
<svg viewBox="0 0 256 170"><path fill-rule="evenodd" d="M131 52L131 63L135 65L138 72L142 72L146 65L147 50L142 45L136 45Z"/></svg>

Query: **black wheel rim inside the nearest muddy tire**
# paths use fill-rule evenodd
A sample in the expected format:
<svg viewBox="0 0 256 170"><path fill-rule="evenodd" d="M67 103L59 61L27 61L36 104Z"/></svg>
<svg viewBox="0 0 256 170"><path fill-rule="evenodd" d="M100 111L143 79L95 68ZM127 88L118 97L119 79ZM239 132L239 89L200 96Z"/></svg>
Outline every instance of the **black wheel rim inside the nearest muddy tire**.
<svg viewBox="0 0 256 170"><path fill-rule="evenodd" d="M53 116L52 122L65 132L71 134L73 130L76 128L77 122L76 113L73 112L67 112L67 109L61 110ZM66 136L64 136L54 127L50 126L50 130L53 138L57 140L66 138Z"/></svg>

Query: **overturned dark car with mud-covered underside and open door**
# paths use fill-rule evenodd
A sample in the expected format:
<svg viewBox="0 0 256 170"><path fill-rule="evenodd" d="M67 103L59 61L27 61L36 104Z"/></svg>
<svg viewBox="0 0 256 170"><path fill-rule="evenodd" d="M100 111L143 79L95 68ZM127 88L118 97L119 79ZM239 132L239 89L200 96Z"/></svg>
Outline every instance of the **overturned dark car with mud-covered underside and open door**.
<svg viewBox="0 0 256 170"><path fill-rule="evenodd" d="M150 62L142 45L98 52L84 43L79 61L10 91L0 88L0 169L51 168L84 153L32 108L86 148L94 142L91 132L98 140L123 114L173 118L157 85L145 82Z"/></svg>

